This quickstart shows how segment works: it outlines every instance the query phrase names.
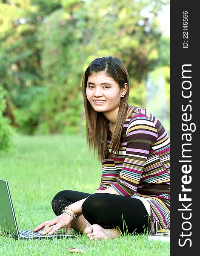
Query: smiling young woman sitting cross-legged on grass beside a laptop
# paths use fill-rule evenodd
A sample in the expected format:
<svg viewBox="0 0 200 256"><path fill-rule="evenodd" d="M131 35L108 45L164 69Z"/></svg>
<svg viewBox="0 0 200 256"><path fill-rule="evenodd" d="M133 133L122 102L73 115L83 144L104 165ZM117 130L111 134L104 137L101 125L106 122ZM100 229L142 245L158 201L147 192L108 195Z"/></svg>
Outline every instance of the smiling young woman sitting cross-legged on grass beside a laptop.
<svg viewBox="0 0 200 256"><path fill-rule="evenodd" d="M55 195L57 215L34 231L60 228L90 239L170 228L170 141L145 108L128 105L129 75L118 58L95 58L83 76L89 148L102 160L100 187L93 193Z"/></svg>

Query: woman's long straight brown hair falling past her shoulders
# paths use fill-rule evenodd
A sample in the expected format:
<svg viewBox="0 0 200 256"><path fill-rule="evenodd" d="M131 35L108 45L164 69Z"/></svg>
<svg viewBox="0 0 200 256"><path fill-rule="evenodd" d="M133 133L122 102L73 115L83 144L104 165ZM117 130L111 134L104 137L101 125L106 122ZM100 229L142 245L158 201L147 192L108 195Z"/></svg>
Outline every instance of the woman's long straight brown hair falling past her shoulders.
<svg viewBox="0 0 200 256"><path fill-rule="evenodd" d="M104 72L106 76L113 78L120 89L127 83L127 92L124 97L121 98L117 122L115 130L111 136L111 152L107 154L107 138L109 133L109 120L103 115L102 112L95 111L87 99L86 88L88 77L94 73ZM99 160L111 157L112 154L118 154L120 149L121 135L123 124L126 121L129 111L128 98L129 98L129 74L124 66L123 62L119 58L113 58L111 56L95 58L86 69L83 80L83 103L86 114L86 139L89 145L89 150L94 149L97 152Z"/></svg>

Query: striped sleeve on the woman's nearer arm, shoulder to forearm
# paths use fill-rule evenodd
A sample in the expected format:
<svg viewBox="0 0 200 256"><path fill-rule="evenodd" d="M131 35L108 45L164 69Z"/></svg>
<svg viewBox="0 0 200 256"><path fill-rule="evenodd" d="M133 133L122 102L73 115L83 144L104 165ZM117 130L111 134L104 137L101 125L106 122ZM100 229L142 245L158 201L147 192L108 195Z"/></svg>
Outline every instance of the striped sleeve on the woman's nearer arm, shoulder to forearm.
<svg viewBox="0 0 200 256"><path fill-rule="evenodd" d="M138 113L129 122L126 138L126 152L120 177L111 186L120 195L130 197L137 189L149 151L157 140L157 129L148 116Z"/></svg>

